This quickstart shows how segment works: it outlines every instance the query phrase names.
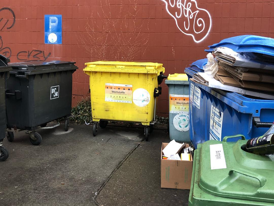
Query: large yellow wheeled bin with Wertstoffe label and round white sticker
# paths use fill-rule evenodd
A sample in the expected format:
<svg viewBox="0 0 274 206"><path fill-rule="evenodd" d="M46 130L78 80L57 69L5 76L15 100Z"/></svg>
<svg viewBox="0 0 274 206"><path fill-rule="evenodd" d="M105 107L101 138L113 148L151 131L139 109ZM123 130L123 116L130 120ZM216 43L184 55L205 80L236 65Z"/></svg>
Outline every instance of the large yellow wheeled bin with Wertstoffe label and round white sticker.
<svg viewBox="0 0 274 206"><path fill-rule="evenodd" d="M89 75L93 136L98 124L108 121L140 122L145 126L145 139L155 123L156 97L161 94L165 68L152 62L85 63Z"/></svg>

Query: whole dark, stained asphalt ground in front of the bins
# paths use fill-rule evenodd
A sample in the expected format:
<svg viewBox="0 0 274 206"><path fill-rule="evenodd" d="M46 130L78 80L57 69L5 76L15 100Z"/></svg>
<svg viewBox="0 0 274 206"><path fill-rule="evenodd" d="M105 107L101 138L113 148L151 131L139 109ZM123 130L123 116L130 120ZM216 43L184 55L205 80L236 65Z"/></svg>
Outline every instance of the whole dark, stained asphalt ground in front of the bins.
<svg viewBox="0 0 274 206"><path fill-rule="evenodd" d="M24 132L12 143L4 139L10 156L0 162L0 205L184 205L188 199L188 190L160 188L165 131L155 130L149 142L138 128L107 127L96 137L86 125L37 132L39 146Z"/></svg>

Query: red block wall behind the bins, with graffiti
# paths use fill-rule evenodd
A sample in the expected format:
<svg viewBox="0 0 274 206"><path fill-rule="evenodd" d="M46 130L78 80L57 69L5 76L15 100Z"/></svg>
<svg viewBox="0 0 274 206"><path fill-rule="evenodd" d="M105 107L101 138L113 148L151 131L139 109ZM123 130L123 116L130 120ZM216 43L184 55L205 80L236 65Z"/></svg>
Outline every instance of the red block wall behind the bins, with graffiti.
<svg viewBox="0 0 274 206"><path fill-rule="evenodd" d="M9 8L0 10L0 53L10 56L11 62L38 58L76 61L79 70L73 75L73 105L89 95L89 78L82 71L85 62L158 62L164 64L166 73L182 73L185 66L206 57L203 50L207 45L235 35L273 37L274 33L274 2L270 0L197 0L197 6L212 18L209 34L199 43L182 33L193 34L193 18L188 31L184 29L187 17L178 18L180 31L161 0L2 0L0 6ZM176 5L168 8L174 16L176 11L180 14ZM194 3L190 10L197 11ZM45 14L62 14L62 45L44 44ZM198 18L204 19L205 29L195 34L196 41L210 27L206 11L199 10ZM164 83L161 86L157 112L167 116L168 90Z"/></svg>

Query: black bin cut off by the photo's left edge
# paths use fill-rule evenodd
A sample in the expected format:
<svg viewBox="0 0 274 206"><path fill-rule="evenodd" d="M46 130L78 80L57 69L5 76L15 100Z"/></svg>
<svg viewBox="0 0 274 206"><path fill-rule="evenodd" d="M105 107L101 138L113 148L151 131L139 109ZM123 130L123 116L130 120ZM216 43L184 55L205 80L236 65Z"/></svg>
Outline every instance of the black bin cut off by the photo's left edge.
<svg viewBox="0 0 274 206"><path fill-rule="evenodd" d="M10 60L0 54L0 161L8 158L8 150L3 146L2 141L6 137L6 103L5 103L5 81L12 70L8 66Z"/></svg>

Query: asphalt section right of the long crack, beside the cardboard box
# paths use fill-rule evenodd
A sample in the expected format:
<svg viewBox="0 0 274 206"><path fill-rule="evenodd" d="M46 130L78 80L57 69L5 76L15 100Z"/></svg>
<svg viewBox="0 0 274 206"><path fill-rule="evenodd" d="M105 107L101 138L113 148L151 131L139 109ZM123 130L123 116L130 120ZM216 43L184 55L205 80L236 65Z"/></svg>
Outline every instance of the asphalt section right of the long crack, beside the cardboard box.
<svg viewBox="0 0 274 206"><path fill-rule="evenodd" d="M102 188L99 205L188 205L189 190L161 188L160 155L162 142L169 142L164 131L154 130Z"/></svg>

